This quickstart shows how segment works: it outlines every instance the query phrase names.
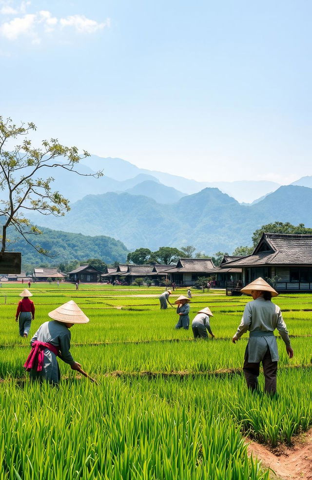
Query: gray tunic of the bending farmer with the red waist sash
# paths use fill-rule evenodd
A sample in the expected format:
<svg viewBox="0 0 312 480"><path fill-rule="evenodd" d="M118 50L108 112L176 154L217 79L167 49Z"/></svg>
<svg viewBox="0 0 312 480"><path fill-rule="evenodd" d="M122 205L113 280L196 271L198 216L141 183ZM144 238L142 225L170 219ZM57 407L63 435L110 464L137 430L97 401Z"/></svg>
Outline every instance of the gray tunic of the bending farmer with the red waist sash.
<svg viewBox="0 0 312 480"><path fill-rule="evenodd" d="M70 339L71 334L69 328L58 321L51 320L42 323L33 338L30 340L30 344L32 345L35 340L52 343L52 345L60 350L61 360L72 365L74 359L69 351ZM29 372L29 376L31 380L46 380L49 383L58 384L60 380L60 372L56 355L46 348L44 350L42 371L37 372L35 369L32 369Z"/></svg>

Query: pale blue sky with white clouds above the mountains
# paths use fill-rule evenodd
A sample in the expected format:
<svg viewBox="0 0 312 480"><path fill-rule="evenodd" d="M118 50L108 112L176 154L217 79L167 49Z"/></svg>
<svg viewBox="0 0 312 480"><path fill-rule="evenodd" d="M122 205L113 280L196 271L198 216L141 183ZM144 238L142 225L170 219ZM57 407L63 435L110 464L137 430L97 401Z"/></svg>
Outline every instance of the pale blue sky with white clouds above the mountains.
<svg viewBox="0 0 312 480"><path fill-rule="evenodd" d="M205 180L312 175L310 0L0 0L0 114Z"/></svg>

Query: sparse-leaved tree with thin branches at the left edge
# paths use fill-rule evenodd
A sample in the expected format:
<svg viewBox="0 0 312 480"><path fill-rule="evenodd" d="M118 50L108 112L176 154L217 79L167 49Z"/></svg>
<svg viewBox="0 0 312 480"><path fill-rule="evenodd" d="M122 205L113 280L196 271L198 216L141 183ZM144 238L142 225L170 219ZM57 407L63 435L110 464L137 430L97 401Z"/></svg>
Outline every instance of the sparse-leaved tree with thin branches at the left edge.
<svg viewBox="0 0 312 480"><path fill-rule="evenodd" d="M76 168L81 159L90 154L83 151L78 154L77 147L66 147L57 139L43 140L40 148L34 148L27 135L36 130L34 123L23 123L18 126L12 119L0 117L0 217L2 217L2 248L0 255L5 251L7 243L7 229L10 225L31 244L39 253L48 252L39 245L34 245L28 234L40 234L40 230L31 225L25 217L25 212L36 210L42 215L65 215L70 210L69 200L58 191L51 189L53 177L44 175L47 170L63 168L70 172L86 177L99 178L102 171L95 174L81 174ZM12 146L16 139L20 144ZM19 141L19 140L18 140Z"/></svg>

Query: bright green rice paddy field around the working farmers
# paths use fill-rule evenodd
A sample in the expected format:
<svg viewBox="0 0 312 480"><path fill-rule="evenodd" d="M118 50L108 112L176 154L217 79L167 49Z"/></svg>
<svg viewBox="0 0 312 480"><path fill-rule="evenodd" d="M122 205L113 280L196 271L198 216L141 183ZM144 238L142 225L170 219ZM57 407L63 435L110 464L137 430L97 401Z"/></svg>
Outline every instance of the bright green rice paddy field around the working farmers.
<svg viewBox="0 0 312 480"><path fill-rule="evenodd" d="M248 455L248 441L292 445L312 426L312 295L274 299L294 357L278 339L271 398L246 389L248 336L231 342L251 299L223 290L194 290L191 321L209 306L216 337L194 341L191 328L175 330L175 309L160 310L163 288L33 284L30 338L49 311L76 301L90 322L72 327L71 353L97 384L61 360L58 388L30 384L29 338L15 322L21 289L0 288L1 480L268 480L276 477Z"/></svg>

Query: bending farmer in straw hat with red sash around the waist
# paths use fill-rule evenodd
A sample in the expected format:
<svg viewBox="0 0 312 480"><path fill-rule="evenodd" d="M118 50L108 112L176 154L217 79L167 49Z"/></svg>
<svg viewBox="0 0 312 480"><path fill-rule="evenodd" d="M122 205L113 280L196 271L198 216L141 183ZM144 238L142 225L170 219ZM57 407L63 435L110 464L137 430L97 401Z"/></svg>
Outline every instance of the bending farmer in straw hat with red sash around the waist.
<svg viewBox="0 0 312 480"><path fill-rule="evenodd" d="M57 385L60 380L57 356L69 363L73 370L81 366L70 353L71 334L69 329L75 323L87 323L89 319L78 305L70 300L48 313L52 321L42 323L30 341L32 350L24 364L30 380L39 380Z"/></svg>

